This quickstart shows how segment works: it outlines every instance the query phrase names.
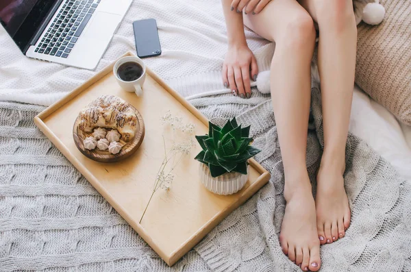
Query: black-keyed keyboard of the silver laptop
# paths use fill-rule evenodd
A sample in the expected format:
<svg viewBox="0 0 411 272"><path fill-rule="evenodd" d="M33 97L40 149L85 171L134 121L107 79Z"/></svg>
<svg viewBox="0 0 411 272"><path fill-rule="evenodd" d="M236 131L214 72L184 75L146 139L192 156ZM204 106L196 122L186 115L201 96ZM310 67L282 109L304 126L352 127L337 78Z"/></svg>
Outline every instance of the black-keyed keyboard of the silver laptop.
<svg viewBox="0 0 411 272"><path fill-rule="evenodd" d="M69 57L100 1L66 0L34 51L60 58Z"/></svg>

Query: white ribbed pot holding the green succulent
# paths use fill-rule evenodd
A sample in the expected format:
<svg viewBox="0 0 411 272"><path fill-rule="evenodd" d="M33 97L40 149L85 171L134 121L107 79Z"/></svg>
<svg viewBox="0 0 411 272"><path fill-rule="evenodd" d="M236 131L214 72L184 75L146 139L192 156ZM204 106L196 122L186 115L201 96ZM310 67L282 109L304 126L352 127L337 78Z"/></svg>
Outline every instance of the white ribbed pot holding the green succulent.
<svg viewBox="0 0 411 272"><path fill-rule="evenodd" d="M218 177L212 177L210 169L203 163L200 163L199 171L201 182L208 190L217 195L232 195L237 193L245 186L249 173L247 166L247 175L232 172L219 175Z"/></svg>

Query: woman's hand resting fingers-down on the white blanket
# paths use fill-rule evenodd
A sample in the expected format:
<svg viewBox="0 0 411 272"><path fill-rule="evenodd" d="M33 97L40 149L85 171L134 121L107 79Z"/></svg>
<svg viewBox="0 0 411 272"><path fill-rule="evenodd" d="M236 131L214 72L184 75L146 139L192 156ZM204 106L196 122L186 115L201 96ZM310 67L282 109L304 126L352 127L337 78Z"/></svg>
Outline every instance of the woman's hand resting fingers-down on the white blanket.
<svg viewBox="0 0 411 272"><path fill-rule="evenodd" d="M223 82L234 96L251 97L250 71L251 78L256 81L257 61L247 44L229 45L223 64Z"/></svg>

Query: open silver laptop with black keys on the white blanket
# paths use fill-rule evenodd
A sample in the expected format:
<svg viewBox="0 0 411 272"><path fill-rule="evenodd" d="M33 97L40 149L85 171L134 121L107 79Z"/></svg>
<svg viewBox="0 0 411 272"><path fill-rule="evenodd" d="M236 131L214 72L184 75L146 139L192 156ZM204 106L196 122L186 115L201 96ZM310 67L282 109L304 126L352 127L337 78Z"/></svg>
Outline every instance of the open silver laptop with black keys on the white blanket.
<svg viewBox="0 0 411 272"><path fill-rule="evenodd" d="M29 58L95 69L132 0L1 0L0 21Z"/></svg>

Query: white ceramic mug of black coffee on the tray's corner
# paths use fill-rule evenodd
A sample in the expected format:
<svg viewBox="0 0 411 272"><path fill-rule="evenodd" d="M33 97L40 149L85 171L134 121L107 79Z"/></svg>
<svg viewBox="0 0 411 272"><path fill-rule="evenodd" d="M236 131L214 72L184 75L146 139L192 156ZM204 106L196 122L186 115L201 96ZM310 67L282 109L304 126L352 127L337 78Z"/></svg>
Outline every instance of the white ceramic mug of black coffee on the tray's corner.
<svg viewBox="0 0 411 272"><path fill-rule="evenodd" d="M126 62L136 62L140 64L140 66L142 67L141 76L138 77L138 79L133 80L132 82L124 81L117 74L117 70L119 69L121 64L125 64ZM130 55L127 57L123 57L120 60L117 60L116 64L114 64L113 67L113 73L116 76L117 82L119 83L121 88L123 88L127 92L136 92L136 95L138 95L139 97L142 95L142 84L144 84L145 81L145 64L144 62L142 62L140 58Z"/></svg>

